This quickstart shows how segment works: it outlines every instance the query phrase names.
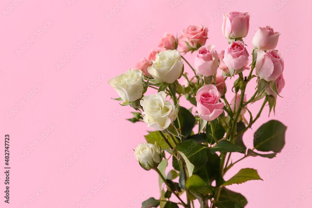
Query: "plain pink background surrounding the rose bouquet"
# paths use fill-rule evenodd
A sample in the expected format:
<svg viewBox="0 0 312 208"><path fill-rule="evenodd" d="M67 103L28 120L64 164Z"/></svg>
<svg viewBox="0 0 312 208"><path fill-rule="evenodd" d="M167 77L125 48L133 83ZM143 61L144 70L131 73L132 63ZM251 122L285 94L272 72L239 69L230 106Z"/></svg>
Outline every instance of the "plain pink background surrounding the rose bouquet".
<svg viewBox="0 0 312 208"><path fill-rule="evenodd" d="M144 171L131 155L132 149L144 141L143 135L149 129L144 123L132 124L125 120L131 118L132 109L123 109L117 101L110 99L118 95L107 81L147 57L164 32L180 34L191 24L207 25L209 39L206 45L216 45L218 52L224 50L227 40L222 36L222 16L218 13L236 10L251 14L250 35L244 39L250 54L254 28L270 25L281 33L276 49L285 59L286 86L281 93L284 98L279 98L276 104L280 113L268 118L266 106L253 130L244 135L244 141L252 141L253 132L269 119L280 120L288 128L286 145L277 157L247 158L235 165L225 178L243 167L259 171L264 181L248 181L229 187L248 196L247 208L311 206L312 193L306 191L312 184L309 150L312 145L312 87L308 64L310 51L307 50L311 48L311 2L125 0L109 18L106 13L110 13L116 3L120 6L120 0L67 2L2 0L0 3L0 9L8 11L0 14L0 135L3 140L5 134L10 135L11 153L10 204L7 204L3 198L2 140L0 207L72 208L80 207L77 203L91 196L82 207L139 208L149 197L158 198L157 173ZM212 20L214 15L216 19ZM51 23L46 24L46 21ZM148 30L150 24L154 28L142 38L140 34ZM35 41L31 41L22 54L17 54L30 40ZM139 44L121 59L120 53L136 40ZM80 47L77 42L85 45ZM67 55L71 58L65 58L67 62L58 69L56 64L71 52L72 55ZM186 57L193 64L193 56L188 54ZM186 71L191 72L188 67ZM228 85L232 82L233 79ZM253 87L247 90L248 98L254 92ZM304 91L301 93L299 89ZM85 95L80 95L86 90ZM228 100L233 96L230 91ZM82 101L79 98L81 102L71 109L79 96L85 98ZM295 101L291 102L292 98ZM254 115L261 104L249 105ZM11 110L16 112L7 117ZM114 115L115 120L112 120ZM53 129L49 125L53 125ZM41 133L45 137L39 136ZM93 141L88 139L91 137ZM297 144L302 147L296 148ZM288 152L291 157L286 156ZM21 158L24 153L27 156ZM239 155L236 153L233 157ZM125 160L127 157L129 160ZM75 161L71 162L69 158ZM70 164L66 169L64 162ZM282 166L281 162L284 163ZM60 167L64 170L60 171ZM267 174L274 169L277 172L268 178ZM95 186L98 186L97 190ZM38 191L38 188L44 191ZM304 191L310 194L301 197ZM296 200L297 205L294 204Z"/></svg>

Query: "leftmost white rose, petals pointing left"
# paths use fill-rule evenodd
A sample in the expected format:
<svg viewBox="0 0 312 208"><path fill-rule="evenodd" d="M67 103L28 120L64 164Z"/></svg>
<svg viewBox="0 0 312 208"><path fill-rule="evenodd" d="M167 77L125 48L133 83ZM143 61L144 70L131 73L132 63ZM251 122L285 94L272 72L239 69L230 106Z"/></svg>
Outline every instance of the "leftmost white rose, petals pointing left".
<svg viewBox="0 0 312 208"><path fill-rule="evenodd" d="M119 96L125 101L135 101L143 94L143 74L137 69L129 69L126 73L118 75L108 80Z"/></svg>

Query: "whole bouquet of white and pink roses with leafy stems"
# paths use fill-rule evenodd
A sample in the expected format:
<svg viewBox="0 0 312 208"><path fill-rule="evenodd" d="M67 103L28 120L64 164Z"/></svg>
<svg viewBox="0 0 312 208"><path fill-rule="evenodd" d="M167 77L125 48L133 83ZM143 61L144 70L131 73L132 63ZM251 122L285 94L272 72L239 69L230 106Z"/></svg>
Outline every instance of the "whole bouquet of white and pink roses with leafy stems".
<svg viewBox="0 0 312 208"><path fill-rule="evenodd" d="M159 174L161 194L144 201L142 208L194 207L194 200L201 208L244 207L246 198L227 186L262 179L252 168L241 169L227 181L224 174L246 157L273 158L284 147L286 127L277 120L255 131L253 149L247 149L242 139L266 104L269 114L272 109L275 112L276 99L285 85L284 61L275 50L280 33L273 28L259 27L249 64L242 39L247 36L249 18L248 12L224 14L222 32L229 45L220 53L213 45L205 46L208 30L200 24L187 27L178 38L165 33L158 44L161 49L152 50L135 70L109 80L120 96L116 100L124 100L121 105L136 110L129 120L143 121L154 130L145 136L147 143L135 149L135 157L144 170ZM181 55L188 51L195 52L194 66ZM192 75L184 72L185 63ZM218 68L222 75L217 75ZM179 83L181 77L185 81ZM234 77L234 85L228 87L226 81ZM247 99L249 82L256 82L257 87ZM158 92L145 95L149 88ZM231 102L226 98L227 90L235 93ZM194 107L181 106L182 97ZM263 104L255 115L248 104L256 101ZM232 162L232 152L239 152L241 158ZM166 174L168 162L173 169ZM186 196L182 199L183 193Z"/></svg>

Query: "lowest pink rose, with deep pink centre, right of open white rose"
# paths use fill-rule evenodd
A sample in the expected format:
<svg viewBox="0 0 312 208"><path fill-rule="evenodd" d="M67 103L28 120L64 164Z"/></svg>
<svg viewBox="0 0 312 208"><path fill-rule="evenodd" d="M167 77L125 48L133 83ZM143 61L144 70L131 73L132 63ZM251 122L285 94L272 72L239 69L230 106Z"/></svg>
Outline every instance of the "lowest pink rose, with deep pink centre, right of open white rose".
<svg viewBox="0 0 312 208"><path fill-rule="evenodd" d="M196 93L197 112L201 119L212 121L223 112L224 103L219 103L221 97L215 85L204 85Z"/></svg>

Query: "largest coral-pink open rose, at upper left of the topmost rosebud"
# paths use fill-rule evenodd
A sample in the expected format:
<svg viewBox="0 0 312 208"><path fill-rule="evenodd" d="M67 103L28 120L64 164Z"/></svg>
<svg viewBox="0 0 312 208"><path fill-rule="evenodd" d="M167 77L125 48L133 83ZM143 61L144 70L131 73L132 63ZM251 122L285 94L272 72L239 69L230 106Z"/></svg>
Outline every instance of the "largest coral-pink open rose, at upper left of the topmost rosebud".
<svg viewBox="0 0 312 208"><path fill-rule="evenodd" d="M186 29L183 29L182 36L187 38L187 42L193 48L197 47L197 43L201 46L205 45L207 40L208 28L206 26L190 25Z"/></svg>

